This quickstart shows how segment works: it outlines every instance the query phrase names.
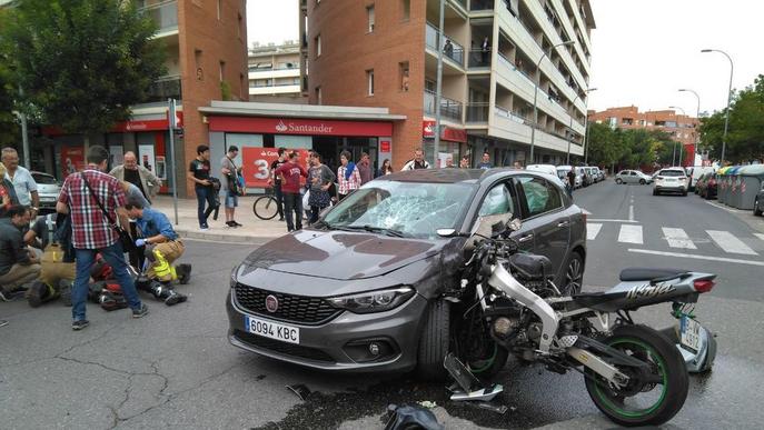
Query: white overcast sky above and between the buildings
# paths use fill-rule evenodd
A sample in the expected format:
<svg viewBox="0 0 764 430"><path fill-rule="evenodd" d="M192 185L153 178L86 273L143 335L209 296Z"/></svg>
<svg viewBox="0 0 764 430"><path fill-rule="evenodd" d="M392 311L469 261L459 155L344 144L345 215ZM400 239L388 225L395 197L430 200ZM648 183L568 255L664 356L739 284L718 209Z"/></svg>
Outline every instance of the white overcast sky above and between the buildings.
<svg viewBox="0 0 764 430"><path fill-rule="evenodd" d="M385 0L389 1L389 0ZM637 106L641 111L676 106L694 116L724 109L734 61L733 89L764 74L760 0L591 0L597 28L592 30L588 108ZM247 1L251 42L280 43L298 38L298 0ZM677 109L677 112L682 110Z"/></svg>

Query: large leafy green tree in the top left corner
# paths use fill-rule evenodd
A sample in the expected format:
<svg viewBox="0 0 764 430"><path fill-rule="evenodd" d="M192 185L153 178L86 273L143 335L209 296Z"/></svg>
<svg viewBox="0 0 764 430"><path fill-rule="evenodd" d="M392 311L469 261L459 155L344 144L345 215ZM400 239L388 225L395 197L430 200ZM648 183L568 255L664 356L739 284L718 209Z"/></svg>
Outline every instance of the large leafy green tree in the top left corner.
<svg viewBox="0 0 764 430"><path fill-rule="evenodd" d="M165 73L157 27L128 0L19 0L0 30L21 109L66 132L106 132Z"/></svg>

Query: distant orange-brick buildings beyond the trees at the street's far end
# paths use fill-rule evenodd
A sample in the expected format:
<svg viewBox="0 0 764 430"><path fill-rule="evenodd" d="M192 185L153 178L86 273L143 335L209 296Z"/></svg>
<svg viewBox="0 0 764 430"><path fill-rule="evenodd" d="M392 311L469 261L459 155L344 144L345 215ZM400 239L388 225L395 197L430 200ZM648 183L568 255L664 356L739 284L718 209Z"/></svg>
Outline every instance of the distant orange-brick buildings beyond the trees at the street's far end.
<svg viewBox="0 0 764 430"><path fill-rule="evenodd" d="M605 123L611 128L661 130L682 143L682 166L693 166L695 143L701 122L697 118L677 114L673 109L639 112L635 106L608 108L604 111L589 111L588 120Z"/></svg>

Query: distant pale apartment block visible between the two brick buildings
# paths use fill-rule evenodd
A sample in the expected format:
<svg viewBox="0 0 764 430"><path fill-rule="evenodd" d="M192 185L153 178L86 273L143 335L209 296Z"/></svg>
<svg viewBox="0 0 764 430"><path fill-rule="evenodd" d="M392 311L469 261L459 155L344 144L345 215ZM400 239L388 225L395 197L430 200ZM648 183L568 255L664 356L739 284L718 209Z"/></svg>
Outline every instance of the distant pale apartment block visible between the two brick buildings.
<svg viewBox="0 0 764 430"><path fill-rule="evenodd" d="M249 49L249 101L307 103L300 86L300 46L255 44Z"/></svg>

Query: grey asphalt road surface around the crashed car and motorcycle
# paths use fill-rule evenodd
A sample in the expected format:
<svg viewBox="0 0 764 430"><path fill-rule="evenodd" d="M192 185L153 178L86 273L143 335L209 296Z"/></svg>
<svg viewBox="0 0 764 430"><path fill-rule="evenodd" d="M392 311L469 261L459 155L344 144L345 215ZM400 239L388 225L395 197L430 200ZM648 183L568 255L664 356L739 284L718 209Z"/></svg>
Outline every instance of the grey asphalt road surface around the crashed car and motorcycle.
<svg viewBox="0 0 764 430"><path fill-rule="evenodd" d="M699 320L718 333L717 362L710 374L691 378L684 409L665 428L758 428L764 420L764 266L754 263L764 261L764 240L755 236L764 226L692 194L653 197L648 187L605 182L574 197L591 212L589 234L592 224L601 224L588 241L586 289L614 284L628 266L718 274L716 288L697 306ZM642 243L635 243L633 228L622 237L623 224L641 226ZM669 246L666 237L682 234L664 234L663 228L683 229L682 244L689 240L696 249ZM727 252L708 231L728 232L755 254ZM722 243L746 251L728 238ZM140 320L127 310L89 306L91 326L73 332L70 310L60 303L39 309L0 303L0 318L10 321L0 328L0 428L374 429L383 428L387 404L424 400L438 404L434 411L447 428L615 427L593 406L579 374L509 363L498 379L506 388L499 401L510 408L502 416L448 402L443 384L407 376L321 373L236 349L226 339L224 300L230 268L254 247L188 241L183 260L194 264L194 279L180 290L189 301L167 308L145 296L151 313ZM672 322L667 306L637 318ZM306 401L285 388L297 383L311 391Z"/></svg>

